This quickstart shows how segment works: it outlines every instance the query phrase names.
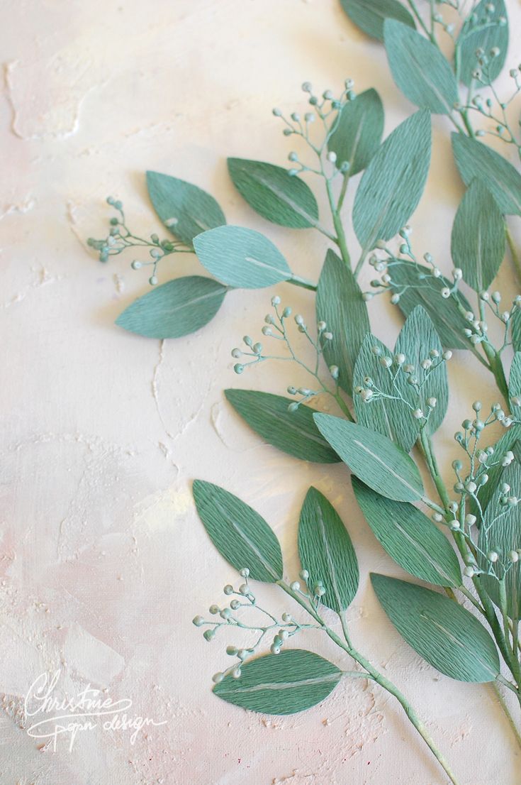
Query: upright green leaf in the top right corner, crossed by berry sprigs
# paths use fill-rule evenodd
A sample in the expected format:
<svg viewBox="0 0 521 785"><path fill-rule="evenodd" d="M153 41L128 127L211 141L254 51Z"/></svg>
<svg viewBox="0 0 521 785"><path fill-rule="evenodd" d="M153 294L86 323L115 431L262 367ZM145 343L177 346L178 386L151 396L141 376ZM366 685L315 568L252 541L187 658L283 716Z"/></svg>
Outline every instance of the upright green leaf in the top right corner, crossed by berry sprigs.
<svg viewBox="0 0 521 785"><path fill-rule="evenodd" d="M467 87L470 87L472 82L472 74L476 68L479 68L476 49L483 49L487 54L490 53L490 49L495 47L499 49L496 57L488 58L487 76L490 76L490 82L497 79L505 65L508 22L500 24L499 20L501 17L507 19L507 10L503 0L494 0L493 10L490 10L490 5L489 0L481 0L472 9L472 14L467 16L456 41L454 59L458 61L461 82ZM483 25L485 20L487 24Z"/></svg>

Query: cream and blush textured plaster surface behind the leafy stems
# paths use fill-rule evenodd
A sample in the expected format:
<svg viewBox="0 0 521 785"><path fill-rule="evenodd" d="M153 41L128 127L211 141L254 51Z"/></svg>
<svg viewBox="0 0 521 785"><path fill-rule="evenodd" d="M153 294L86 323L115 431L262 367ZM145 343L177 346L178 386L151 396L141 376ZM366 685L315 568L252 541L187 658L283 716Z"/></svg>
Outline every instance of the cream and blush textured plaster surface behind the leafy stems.
<svg viewBox="0 0 521 785"><path fill-rule="evenodd" d="M349 611L358 647L427 718L461 783L519 783L491 689L421 663L375 603L367 571L400 570L369 534L346 470L278 453L224 402L229 385L282 392L299 381L285 366L241 378L231 371L230 349L245 332L260 334L271 293L233 292L211 327L160 344L114 327L148 288L143 271L129 268L132 252L101 265L85 248L87 236L106 231L109 193L125 201L136 230L160 229L144 186L150 168L208 189L230 222L268 232L293 268L317 279L324 240L256 217L231 188L225 158L284 165L290 146L270 109L304 110L303 79L318 89L339 89L347 76L359 91L376 86L388 133L411 105L382 48L336 0L5 0L2 9L1 785L445 782L399 707L363 681L287 718L212 697L228 641L207 644L190 620L223 599L234 575L194 513L194 476L241 495L273 524L290 577L302 498L312 483L324 491L359 553L363 580ZM519 5L510 11L515 31ZM433 166L414 217L418 252L430 250L447 270L461 195L448 130L434 119ZM325 215L322 195L320 207ZM191 257L168 265L161 280L194 270ZM508 274L501 283L512 287ZM308 293L277 291L312 318ZM399 316L382 301L371 313L389 340ZM436 437L447 458L476 389L495 397L468 356L450 375L467 385ZM288 608L274 590L260 595ZM326 642L307 644L341 662ZM53 751L27 736L23 701L38 674L59 668L63 695L90 682L166 724L144 728L134 745L128 733L97 730L80 734L71 752L63 740Z"/></svg>

